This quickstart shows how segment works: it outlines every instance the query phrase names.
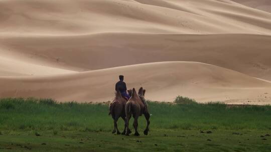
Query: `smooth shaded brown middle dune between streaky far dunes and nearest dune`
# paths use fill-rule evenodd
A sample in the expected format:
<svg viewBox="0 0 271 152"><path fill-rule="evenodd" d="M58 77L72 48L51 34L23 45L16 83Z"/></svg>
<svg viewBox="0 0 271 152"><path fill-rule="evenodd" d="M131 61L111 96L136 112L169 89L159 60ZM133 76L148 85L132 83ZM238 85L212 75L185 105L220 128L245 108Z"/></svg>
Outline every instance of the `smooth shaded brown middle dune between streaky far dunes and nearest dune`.
<svg viewBox="0 0 271 152"><path fill-rule="evenodd" d="M157 61L199 61L271 80L271 36L134 34L6 36L13 56L77 71ZM5 52L3 52L5 53ZM74 56L76 54L76 56ZM58 59L58 60L57 60Z"/></svg>

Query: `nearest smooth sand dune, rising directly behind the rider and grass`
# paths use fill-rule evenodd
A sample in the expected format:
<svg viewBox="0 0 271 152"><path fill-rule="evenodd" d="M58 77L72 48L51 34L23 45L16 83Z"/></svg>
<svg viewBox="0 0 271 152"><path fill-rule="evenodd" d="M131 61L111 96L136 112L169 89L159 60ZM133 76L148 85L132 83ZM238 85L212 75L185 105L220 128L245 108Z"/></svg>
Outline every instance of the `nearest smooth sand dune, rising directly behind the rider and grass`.
<svg viewBox="0 0 271 152"><path fill-rule="evenodd" d="M257 98L271 83L200 62L156 62L59 76L1 77L1 96L52 97L58 100L107 101L113 97L118 74L128 87L147 89L153 100L171 101L178 94L199 101ZM270 92L271 93L271 92ZM260 102L264 103L264 102Z"/></svg>

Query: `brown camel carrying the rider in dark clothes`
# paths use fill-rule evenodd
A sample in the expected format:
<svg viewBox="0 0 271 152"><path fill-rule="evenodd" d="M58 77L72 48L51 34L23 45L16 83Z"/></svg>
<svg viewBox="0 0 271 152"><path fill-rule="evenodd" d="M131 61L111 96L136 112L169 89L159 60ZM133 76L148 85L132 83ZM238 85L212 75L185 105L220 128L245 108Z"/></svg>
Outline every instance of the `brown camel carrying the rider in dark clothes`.
<svg viewBox="0 0 271 152"><path fill-rule="evenodd" d="M128 93L131 95L131 89L128 90ZM119 91L116 91L114 99L109 104L109 115L111 114L114 120L114 129L112 133L115 133L117 131L117 134L120 134L117 128L117 120L119 117L121 117L125 122L126 102L127 100L124 97L122 97L121 93ZM124 130L121 134L125 134L125 131L126 131L126 124L124 125Z"/></svg>

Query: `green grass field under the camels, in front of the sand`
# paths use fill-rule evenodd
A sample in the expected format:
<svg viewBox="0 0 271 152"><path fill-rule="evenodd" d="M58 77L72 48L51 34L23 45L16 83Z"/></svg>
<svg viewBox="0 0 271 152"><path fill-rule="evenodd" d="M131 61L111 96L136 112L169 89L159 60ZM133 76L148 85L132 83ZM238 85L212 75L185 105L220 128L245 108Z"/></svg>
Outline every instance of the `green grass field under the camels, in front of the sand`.
<svg viewBox="0 0 271 152"><path fill-rule="evenodd" d="M271 151L271 106L182 99L149 101L150 133L141 116L139 137L111 133L107 104L0 99L0 151Z"/></svg>

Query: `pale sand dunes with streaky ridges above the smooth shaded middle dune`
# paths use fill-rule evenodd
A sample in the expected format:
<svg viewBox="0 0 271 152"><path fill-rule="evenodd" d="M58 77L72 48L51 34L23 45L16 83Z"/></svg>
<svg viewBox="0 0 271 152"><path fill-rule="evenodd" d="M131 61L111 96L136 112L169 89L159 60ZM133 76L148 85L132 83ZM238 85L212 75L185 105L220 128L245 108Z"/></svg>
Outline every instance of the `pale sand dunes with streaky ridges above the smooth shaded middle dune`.
<svg viewBox="0 0 271 152"><path fill-rule="evenodd" d="M0 10L3 34L271 34L270 13L221 0L0 0Z"/></svg>

